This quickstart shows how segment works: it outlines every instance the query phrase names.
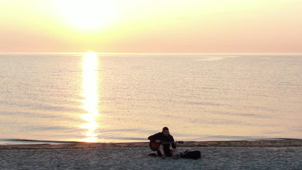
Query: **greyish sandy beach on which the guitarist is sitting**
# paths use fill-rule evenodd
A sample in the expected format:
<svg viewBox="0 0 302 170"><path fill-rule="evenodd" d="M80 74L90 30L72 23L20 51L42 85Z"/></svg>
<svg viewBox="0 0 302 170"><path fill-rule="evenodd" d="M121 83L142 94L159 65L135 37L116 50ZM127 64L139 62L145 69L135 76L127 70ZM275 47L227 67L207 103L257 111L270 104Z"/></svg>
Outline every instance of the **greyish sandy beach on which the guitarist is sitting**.
<svg viewBox="0 0 302 170"><path fill-rule="evenodd" d="M161 159L142 143L0 145L0 169L302 169L302 140L185 142L198 160Z"/></svg>

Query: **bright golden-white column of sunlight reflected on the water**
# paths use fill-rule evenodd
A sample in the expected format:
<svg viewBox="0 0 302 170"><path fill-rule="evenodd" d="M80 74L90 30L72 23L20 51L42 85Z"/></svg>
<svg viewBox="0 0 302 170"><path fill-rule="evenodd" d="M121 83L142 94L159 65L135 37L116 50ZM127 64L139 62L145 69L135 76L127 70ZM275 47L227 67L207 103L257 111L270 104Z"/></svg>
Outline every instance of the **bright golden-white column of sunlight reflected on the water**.
<svg viewBox="0 0 302 170"><path fill-rule="evenodd" d="M87 123L81 125L81 128L85 130L85 138L80 141L83 142L96 142L97 141L97 127L98 123L96 118L99 115L98 113L98 57L97 53L87 52L83 55L82 61L83 67L83 84L82 84L82 108L87 111L87 113L82 114L81 117Z"/></svg>

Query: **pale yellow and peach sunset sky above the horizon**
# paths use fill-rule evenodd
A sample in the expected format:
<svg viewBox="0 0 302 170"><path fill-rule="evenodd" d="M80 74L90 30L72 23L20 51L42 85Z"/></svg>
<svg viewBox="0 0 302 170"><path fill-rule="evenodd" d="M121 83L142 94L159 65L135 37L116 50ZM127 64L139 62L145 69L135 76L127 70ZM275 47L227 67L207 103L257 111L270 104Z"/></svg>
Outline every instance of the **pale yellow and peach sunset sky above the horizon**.
<svg viewBox="0 0 302 170"><path fill-rule="evenodd" d="M0 0L0 52L302 52L301 0Z"/></svg>

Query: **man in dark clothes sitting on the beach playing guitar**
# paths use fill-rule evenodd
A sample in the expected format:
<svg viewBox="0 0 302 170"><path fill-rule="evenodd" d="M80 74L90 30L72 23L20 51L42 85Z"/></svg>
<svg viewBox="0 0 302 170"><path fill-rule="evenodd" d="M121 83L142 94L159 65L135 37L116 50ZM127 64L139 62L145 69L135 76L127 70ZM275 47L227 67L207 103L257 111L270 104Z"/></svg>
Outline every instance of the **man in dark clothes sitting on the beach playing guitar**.
<svg viewBox="0 0 302 170"><path fill-rule="evenodd" d="M173 150L170 150L170 143L161 144L159 146L157 154L158 156L161 156L161 158L165 159L166 156L171 157L173 159L180 158L180 155L177 154L177 142L174 141L174 138L172 135L170 135L169 129L167 127L164 127L162 132L149 136L148 139L157 143L171 142Z"/></svg>

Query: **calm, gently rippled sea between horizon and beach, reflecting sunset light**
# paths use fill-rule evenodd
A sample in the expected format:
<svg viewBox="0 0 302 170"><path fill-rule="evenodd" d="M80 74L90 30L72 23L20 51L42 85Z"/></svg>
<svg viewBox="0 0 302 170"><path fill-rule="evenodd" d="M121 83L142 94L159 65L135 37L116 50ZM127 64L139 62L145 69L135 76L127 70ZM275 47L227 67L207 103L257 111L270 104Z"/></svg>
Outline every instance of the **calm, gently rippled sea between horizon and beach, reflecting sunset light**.
<svg viewBox="0 0 302 170"><path fill-rule="evenodd" d="M148 141L163 126L302 139L301 122L302 55L0 54L0 144Z"/></svg>

